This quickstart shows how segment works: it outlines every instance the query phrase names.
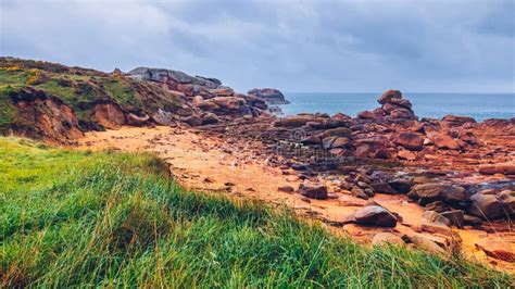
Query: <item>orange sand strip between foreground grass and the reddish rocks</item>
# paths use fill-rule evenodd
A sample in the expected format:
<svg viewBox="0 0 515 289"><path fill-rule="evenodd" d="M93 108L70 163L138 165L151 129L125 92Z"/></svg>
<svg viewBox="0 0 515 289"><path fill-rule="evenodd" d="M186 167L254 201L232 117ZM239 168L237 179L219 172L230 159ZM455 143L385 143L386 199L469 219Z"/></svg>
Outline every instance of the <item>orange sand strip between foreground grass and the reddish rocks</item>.
<svg viewBox="0 0 515 289"><path fill-rule="evenodd" d="M448 237L422 228L424 209L404 194L376 193L366 201L352 196L350 191L338 191L338 186L335 186L334 181L336 175L321 177L319 183L325 184L330 191L338 191L337 198L306 199L296 191L280 191L279 188L296 189L302 184L296 171L289 169L289 174L285 175L284 169L271 166L266 158L255 155L255 148L238 151L235 148L239 148L241 143L227 143L225 140L221 136L205 134L194 128L122 127L116 130L88 133L78 140L78 148L154 152L171 166L171 172L178 183L188 190L287 205L303 218L322 221L331 231L351 236L363 243L370 243L378 233L390 233L419 236L439 246L450 246ZM398 213L402 222L394 228L342 223L354 211L370 203L377 203ZM513 263L488 256L476 246L482 241L501 241L510 247L514 239L513 233L488 233L476 228L454 227L452 231L460 236L462 252L468 260L515 272ZM428 250L422 244L416 247Z"/></svg>

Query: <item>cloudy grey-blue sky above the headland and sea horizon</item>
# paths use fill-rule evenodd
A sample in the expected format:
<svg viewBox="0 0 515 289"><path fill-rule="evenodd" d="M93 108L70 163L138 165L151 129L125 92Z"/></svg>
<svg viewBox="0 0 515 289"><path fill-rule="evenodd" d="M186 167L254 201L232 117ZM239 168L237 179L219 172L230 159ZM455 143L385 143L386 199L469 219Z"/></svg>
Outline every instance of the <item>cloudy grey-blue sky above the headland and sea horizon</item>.
<svg viewBox="0 0 515 289"><path fill-rule="evenodd" d="M238 91L515 92L515 0L0 0L0 54Z"/></svg>

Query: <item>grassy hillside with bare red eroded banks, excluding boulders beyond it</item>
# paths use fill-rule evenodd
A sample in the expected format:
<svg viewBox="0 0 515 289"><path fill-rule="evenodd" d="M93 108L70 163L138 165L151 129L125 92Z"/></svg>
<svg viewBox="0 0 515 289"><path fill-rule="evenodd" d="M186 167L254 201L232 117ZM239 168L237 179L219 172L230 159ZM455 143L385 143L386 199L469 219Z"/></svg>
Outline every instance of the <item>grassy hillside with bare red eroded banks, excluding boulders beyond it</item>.
<svg viewBox="0 0 515 289"><path fill-rule="evenodd" d="M61 64L0 58L0 134L72 140L80 131L152 124L192 113L183 93L120 71L102 73Z"/></svg>

